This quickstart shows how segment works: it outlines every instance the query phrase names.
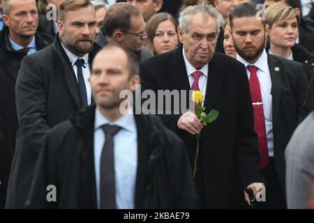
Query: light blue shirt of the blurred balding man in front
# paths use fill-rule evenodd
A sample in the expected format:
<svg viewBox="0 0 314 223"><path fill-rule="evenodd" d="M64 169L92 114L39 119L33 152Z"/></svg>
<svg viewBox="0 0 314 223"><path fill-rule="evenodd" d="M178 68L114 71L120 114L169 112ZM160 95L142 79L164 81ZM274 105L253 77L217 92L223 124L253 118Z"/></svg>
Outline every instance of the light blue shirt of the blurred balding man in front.
<svg viewBox="0 0 314 223"><path fill-rule="evenodd" d="M100 207L100 158L105 144L105 133L101 126L105 124L121 127L121 130L114 135L114 179L117 208L133 209L137 171L137 128L133 110L129 109L128 114L114 123L110 123L96 108L94 163L98 208Z"/></svg>

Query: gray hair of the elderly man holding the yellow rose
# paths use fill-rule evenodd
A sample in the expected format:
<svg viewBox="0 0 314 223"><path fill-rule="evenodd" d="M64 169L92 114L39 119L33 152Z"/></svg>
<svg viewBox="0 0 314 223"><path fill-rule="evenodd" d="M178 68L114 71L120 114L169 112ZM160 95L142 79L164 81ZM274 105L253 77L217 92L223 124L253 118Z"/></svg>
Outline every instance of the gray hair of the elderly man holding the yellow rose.
<svg viewBox="0 0 314 223"><path fill-rule="evenodd" d="M216 27L218 32L220 26L223 24L223 15L221 15L214 6L207 3L202 3L196 6L188 6L180 13L179 26L181 26L181 28L184 30L184 33L188 33L190 29L190 20L192 15L195 15L199 12L202 12L206 19L209 16L214 17L216 20Z"/></svg>

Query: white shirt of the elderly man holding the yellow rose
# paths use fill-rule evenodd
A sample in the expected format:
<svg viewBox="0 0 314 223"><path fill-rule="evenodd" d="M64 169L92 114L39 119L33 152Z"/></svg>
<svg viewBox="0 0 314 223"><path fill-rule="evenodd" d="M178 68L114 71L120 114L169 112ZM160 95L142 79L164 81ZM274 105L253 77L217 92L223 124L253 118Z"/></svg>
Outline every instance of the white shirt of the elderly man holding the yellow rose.
<svg viewBox="0 0 314 223"><path fill-rule="evenodd" d="M202 91L202 94L204 95L204 100L205 100L205 95L206 95L206 88L207 88L207 77L208 77L208 63L202 67L200 70L196 70L192 64L188 61L186 58L186 54L184 53L184 49L182 49L183 55L184 55L184 63L186 64L186 72L188 74L188 82L190 82L190 88L192 88L193 82L194 82L194 77L193 77L193 72L195 71L200 71L202 72L202 75L200 76L200 79L198 80L198 87L200 88L200 91ZM203 103L204 104L204 103Z"/></svg>

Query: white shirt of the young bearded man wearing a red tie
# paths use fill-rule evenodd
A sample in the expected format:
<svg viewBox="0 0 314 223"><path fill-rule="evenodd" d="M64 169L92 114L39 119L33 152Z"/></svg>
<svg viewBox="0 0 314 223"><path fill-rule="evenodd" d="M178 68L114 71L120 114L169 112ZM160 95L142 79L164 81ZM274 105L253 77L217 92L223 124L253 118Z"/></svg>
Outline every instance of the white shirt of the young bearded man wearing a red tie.
<svg viewBox="0 0 314 223"><path fill-rule="evenodd" d="M246 62L239 54L237 54L237 60L246 66L246 72L248 79L250 79L251 72L247 66L257 67L257 77L260 82L260 91L262 94L265 128L267 135L267 146L269 157L274 157L274 134L273 134L273 108L272 108L272 95L271 95L271 76L269 72L269 66L267 62L267 53L264 49L260 58L253 64Z"/></svg>

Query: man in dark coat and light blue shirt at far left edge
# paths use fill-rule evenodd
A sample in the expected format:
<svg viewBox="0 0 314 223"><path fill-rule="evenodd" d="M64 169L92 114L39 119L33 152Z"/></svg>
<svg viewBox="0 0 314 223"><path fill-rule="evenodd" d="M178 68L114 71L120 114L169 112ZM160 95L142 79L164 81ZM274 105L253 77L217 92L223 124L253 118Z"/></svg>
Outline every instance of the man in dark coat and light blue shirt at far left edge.
<svg viewBox="0 0 314 223"><path fill-rule="evenodd" d="M36 1L4 1L6 27L0 35L0 208L6 204L6 188L15 151L18 128L15 107L15 81L22 59L48 44L36 33ZM16 14L27 12L20 20ZM36 13L31 13L35 11ZM26 21L26 22L25 22ZM31 28L25 29L27 26ZM27 47L26 51L24 47Z"/></svg>

